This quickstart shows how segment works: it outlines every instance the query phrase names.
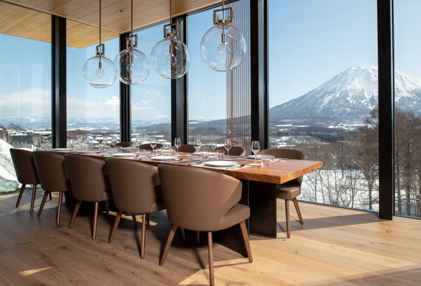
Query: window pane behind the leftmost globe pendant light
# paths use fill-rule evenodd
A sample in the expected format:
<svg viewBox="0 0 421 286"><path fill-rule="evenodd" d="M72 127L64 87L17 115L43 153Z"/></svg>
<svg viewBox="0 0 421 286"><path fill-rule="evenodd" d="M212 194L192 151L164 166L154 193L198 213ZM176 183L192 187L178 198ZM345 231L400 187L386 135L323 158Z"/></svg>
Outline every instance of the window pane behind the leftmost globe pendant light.
<svg viewBox="0 0 421 286"><path fill-rule="evenodd" d="M95 88L84 79L85 62L95 56L98 29L67 20L67 136L120 137L119 81L108 88ZM118 34L103 30L105 56L111 61L119 53Z"/></svg>

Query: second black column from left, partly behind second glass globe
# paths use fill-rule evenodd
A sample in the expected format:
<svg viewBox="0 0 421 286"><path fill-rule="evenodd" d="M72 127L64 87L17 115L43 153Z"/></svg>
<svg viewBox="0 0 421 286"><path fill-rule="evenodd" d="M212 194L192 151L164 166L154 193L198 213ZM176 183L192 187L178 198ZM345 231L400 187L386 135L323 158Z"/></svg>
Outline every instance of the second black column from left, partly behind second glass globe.
<svg viewBox="0 0 421 286"><path fill-rule="evenodd" d="M126 49L126 40L129 33L120 34L120 51ZM117 78L118 80L118 78ZM130 84L120 83L120 140L121 142L130 142L131 140L131 88Z"/></svg>

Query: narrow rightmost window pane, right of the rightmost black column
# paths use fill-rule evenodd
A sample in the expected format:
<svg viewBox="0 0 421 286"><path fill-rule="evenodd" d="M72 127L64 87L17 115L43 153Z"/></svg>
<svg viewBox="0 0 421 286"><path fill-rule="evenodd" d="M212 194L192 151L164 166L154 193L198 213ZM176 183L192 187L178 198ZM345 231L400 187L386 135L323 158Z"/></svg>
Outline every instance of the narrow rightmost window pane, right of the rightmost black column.
<svg viewBox="0 0 421 286"><path fill-rule="evenodd" d="M395 214L421 217L421 2L394 0Z"/></svg>

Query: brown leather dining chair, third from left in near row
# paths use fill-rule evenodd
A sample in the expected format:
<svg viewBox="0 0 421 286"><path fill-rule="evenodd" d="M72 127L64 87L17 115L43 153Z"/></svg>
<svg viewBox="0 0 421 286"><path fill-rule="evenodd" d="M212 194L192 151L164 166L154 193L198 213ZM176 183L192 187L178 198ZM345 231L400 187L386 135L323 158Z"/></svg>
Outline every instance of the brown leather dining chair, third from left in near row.
<svg viewBox="0 0 421 286"><path fill-rule="evenodd" d="M112 199L104 160L84 155L64 155L70 185L75 197L76 206L70 219L69 228L73 226L82 201L93 202L92 240L96 239L96 225L100 202L105 202L108 215L108 201Z"/></svg>

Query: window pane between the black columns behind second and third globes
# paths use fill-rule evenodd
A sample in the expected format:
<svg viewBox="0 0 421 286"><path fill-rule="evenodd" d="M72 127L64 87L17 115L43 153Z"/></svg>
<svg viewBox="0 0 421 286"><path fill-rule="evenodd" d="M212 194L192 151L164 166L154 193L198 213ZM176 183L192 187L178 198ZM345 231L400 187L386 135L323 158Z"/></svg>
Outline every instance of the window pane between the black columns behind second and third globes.
<svg viewBox="0 0 421 286"><path fill-rule="evenodd" d="M165 146L171 144L171 80L159 76L151 63L154 45L163 39L163 26L137 31L137 49L151 64L147 79L131 87L132 141L136 138L147 143L154 137Z"/></svg>

